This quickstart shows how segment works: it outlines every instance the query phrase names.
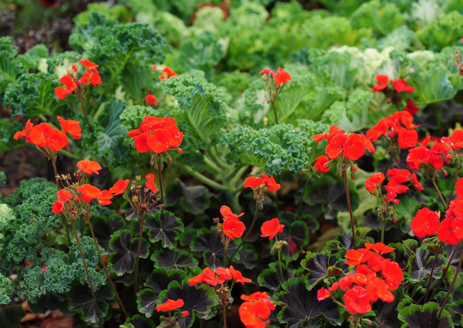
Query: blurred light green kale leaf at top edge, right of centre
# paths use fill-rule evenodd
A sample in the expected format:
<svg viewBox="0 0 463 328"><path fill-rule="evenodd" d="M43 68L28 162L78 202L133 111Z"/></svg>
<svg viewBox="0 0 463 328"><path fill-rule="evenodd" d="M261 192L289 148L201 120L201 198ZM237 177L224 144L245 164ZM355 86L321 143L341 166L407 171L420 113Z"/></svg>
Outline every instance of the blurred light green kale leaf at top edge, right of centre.
<svg viewBox="0 0 463 328"><path fill-rule="evenodd" d="M394 3L382 5L380 0L363 3L350 16L354 28L370 27L380 35L388 35L405 22L407 15L401 13Z"/></svg>

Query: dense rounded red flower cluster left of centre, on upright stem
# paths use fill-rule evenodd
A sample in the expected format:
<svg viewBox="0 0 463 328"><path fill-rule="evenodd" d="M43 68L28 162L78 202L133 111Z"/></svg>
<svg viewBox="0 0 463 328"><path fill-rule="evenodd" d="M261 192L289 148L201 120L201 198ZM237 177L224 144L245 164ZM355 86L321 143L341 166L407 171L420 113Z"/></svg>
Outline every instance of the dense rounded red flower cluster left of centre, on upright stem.
<svg viewBox="0 0 463 328"><path fill-rule="evenodd" d="M133 139L139 152L163 153L181 144L183 132L179 131L176 124L169 117L145 116L138 129L129 131L129 137ZM180 149L176 150L182 152Z"/></svg>

